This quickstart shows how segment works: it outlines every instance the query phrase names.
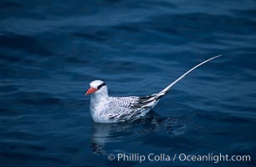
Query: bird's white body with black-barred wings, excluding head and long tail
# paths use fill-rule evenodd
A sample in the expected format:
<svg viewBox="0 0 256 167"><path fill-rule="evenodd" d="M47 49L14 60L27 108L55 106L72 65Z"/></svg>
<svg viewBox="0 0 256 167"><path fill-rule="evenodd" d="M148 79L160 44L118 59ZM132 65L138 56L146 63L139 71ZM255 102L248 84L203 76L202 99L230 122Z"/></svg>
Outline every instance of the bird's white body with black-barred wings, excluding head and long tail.
<svg viewBox="0 0 256 167"><path fill-rule="evenodd" d="M130 97L108 97L98 101L92 95L90 113L95 122L115 123L139 119L156 105L155 100Z"/></svg>

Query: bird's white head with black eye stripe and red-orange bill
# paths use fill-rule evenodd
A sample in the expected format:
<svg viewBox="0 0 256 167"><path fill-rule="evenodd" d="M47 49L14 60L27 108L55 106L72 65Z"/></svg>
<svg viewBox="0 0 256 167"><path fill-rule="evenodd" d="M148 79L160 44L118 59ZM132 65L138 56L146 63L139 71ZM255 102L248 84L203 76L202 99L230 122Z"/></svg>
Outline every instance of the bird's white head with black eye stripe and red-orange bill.
<svg viewBox="0 0 256 167"><path fill-rule="evenodd" d="M85 95L88 94L108 94L108 89L105 82L95 80L90 83L90 89L87 90Z"/></svg>

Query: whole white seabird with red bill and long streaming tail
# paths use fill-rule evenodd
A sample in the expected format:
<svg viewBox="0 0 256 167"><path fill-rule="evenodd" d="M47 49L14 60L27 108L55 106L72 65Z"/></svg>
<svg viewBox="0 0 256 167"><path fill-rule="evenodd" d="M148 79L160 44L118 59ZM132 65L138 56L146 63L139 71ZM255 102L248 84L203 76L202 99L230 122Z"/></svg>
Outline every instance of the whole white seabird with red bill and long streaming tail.
<svg viewBox="0 0 256 167"><path fill-rule="evenodd" d="M110 97L108 94L107 85L104 81L92 81L90 83L90 89L88 89L85 93L85 95L91 94L91 117L96 123L102 124L120 123L140 119L156 106L159 100L172 89L174 84L176 84L188 73L191 73L194 69L198 68L202 64L220 56L222 55L209 58L202 63L197 64L195 67L189 69L186 73L182 74L182 76L169 84L165 89L162 89L156 94L143 97Z"/></svg>

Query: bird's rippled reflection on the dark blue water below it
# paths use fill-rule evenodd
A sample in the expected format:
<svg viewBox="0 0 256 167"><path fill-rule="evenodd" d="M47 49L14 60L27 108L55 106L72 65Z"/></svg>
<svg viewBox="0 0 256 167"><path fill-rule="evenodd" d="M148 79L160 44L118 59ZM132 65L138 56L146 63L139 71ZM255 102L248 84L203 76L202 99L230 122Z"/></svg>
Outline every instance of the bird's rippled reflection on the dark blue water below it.
<svg viewBox="0 0 256 167"><path fill-rule="evenodd" d="M150 134L160 129L165 130L166 133L175 134L175 130L173 130L175 119L171 117L162 118L161 115L152 110L145 117L133 122L116 124L93 123L92 126L90 147L94 154L105 153L106 144L120 142L131 134Z"/></svg>

